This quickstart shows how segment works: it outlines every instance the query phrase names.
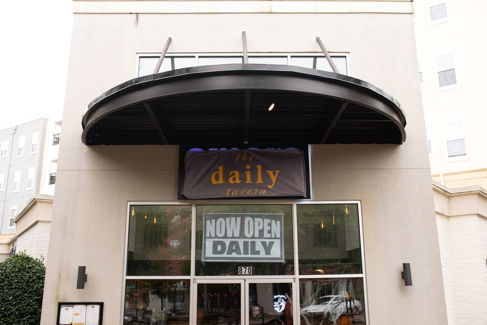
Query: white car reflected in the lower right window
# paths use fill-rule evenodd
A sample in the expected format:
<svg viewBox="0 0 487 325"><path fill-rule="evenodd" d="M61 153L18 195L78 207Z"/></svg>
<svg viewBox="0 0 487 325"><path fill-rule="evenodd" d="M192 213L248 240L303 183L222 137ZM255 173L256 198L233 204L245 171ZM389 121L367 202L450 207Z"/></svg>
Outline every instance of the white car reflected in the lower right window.
<svg viewBox="0 0 487 325"><path fill-rule="evenodd" d="M313 315L316 317L318 315L314 314L323 314L324 319L336 320L341 315L346 314L347 311L350 313L350 307L352 307L354 314L362 311L362 305L358 300L347 300L342 295L328 295L319 297L309 306L301 308L301 315Z"/></svg>

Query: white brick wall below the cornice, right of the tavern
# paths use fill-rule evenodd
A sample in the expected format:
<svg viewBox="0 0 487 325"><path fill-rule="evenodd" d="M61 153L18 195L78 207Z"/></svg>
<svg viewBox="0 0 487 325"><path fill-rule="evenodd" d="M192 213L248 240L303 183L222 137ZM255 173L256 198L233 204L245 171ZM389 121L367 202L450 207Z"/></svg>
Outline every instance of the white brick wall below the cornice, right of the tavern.
<svg viewBox="0 0 487 325"><path fill-rule="evenodd" d="M436 215L448 324L487 324L487 219Z"/></svg>

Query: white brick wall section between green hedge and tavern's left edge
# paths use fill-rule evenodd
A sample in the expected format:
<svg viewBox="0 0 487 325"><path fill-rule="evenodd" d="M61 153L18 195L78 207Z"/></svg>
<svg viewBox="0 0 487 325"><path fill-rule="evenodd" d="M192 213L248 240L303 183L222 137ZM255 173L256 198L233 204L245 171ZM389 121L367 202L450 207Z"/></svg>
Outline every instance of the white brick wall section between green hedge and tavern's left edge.
<svg viewBox="0 0 487 325"><path fill-rule="evenodd" d="M47 253L49 245L49 233L51 223L48 221L39 221L17 238L16 252L20 253L27 250L27 254L40 258L44 256L44 263L47 262Z"/></svg>

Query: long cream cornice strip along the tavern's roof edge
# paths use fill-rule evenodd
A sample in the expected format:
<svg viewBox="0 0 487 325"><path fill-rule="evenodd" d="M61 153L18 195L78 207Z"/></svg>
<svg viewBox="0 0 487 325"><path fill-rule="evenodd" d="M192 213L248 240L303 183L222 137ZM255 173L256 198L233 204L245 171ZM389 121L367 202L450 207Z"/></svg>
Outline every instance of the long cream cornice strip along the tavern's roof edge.
<svg viewBox="0 0 487 325"><path fill-rule="evenodd" d="M75 14L412 14L411 0L74 0Z"/></svg>

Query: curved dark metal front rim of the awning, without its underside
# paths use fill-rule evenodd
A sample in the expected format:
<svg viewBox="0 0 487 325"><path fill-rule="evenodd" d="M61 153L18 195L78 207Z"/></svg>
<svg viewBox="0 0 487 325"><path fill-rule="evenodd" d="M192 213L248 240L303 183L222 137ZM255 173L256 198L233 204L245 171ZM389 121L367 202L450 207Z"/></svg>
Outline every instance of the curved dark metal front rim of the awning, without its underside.
<svg viewBox="0 0 487 325"><path fill-rule="evenodd" d="M226 64L151 74L124 82L98 96L83 116L82 141L103 117L150 100L211 91L275 90L313 94L357 104L392 121L406 139L406 118L400 104L368 82L333 72L268 64Z"/></svg>

